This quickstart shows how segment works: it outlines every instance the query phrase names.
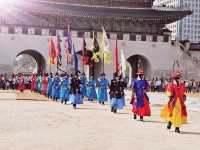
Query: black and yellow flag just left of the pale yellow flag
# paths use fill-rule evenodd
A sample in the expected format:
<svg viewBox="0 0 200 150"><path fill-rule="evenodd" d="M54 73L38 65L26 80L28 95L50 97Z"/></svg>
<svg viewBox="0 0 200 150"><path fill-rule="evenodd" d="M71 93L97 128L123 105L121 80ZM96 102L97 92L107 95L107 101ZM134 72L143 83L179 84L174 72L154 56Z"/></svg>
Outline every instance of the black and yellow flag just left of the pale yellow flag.
<svg viewBox="0 0 200 150"><path fill-rule="evenodd" d="M98 63L100 61L99 60L99 56L98 56L98 53L99 53L99 43L97 41L97 37L94 34L94 32L93 32L93 40L92 40L92 48L91 49L93 51L91 60L93 60L94 62Z"/></svg>

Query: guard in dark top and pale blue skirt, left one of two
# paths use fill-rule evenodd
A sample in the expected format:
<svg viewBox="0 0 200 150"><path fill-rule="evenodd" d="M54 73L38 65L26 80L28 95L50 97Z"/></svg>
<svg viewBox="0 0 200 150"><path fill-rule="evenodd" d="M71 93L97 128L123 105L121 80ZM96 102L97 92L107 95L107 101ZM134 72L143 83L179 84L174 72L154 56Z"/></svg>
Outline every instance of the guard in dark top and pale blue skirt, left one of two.
<svg viewBox="0 0 200 150"><path fill-rule="evenodd" d="M78 78L78 73L71 77L70 80L70 96L69 102L73 105L73 108L76 109L78 104L83 104L83 96L80 91L81 81Z"/></svg>

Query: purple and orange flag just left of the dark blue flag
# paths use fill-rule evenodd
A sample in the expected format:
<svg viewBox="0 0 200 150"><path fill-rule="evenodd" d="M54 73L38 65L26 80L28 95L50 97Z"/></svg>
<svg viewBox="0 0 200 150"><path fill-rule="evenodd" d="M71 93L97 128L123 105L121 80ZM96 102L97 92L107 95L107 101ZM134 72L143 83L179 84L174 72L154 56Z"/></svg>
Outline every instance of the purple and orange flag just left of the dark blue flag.
<svg viewBox="0 0 200 150"><path fill-rule="evenodd" d="M67 63L72 63L72 36L70 29L68 28L67 39L64 41L64 47L66 50Z"/></svg>

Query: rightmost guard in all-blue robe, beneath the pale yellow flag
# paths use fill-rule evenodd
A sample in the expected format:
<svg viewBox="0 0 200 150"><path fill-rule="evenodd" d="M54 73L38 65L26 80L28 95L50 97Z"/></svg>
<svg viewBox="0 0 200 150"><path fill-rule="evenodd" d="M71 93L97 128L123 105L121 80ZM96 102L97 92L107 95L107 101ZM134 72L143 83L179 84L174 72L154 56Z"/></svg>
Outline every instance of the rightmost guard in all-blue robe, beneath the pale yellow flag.
<svg viewBox="0 0 200 150"><path fill-rule="evenodd" d="M107 92L108 86L109 86L108 79L106 79L106 76L103 73L98 80L98 96L97 96L99 103L102 105L104 105L104 102L108 100L108 92Z"/></svg>

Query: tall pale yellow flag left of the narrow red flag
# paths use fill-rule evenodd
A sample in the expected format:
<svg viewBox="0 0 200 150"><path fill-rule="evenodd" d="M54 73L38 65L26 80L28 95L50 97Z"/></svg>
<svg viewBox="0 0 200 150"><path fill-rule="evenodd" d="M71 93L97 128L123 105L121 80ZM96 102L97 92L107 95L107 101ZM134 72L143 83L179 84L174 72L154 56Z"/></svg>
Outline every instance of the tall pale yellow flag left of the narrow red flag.
<svg viewBox="0 0 200 150"><path fill-rule="evenodd" d="M105 29L102 27L102 35L101 35L101 42L100 42L100 52L101 52L101 57L103 59L104 64L109 64L110 63L110 45L109 45L109 40L106 35Z"/></svg>

